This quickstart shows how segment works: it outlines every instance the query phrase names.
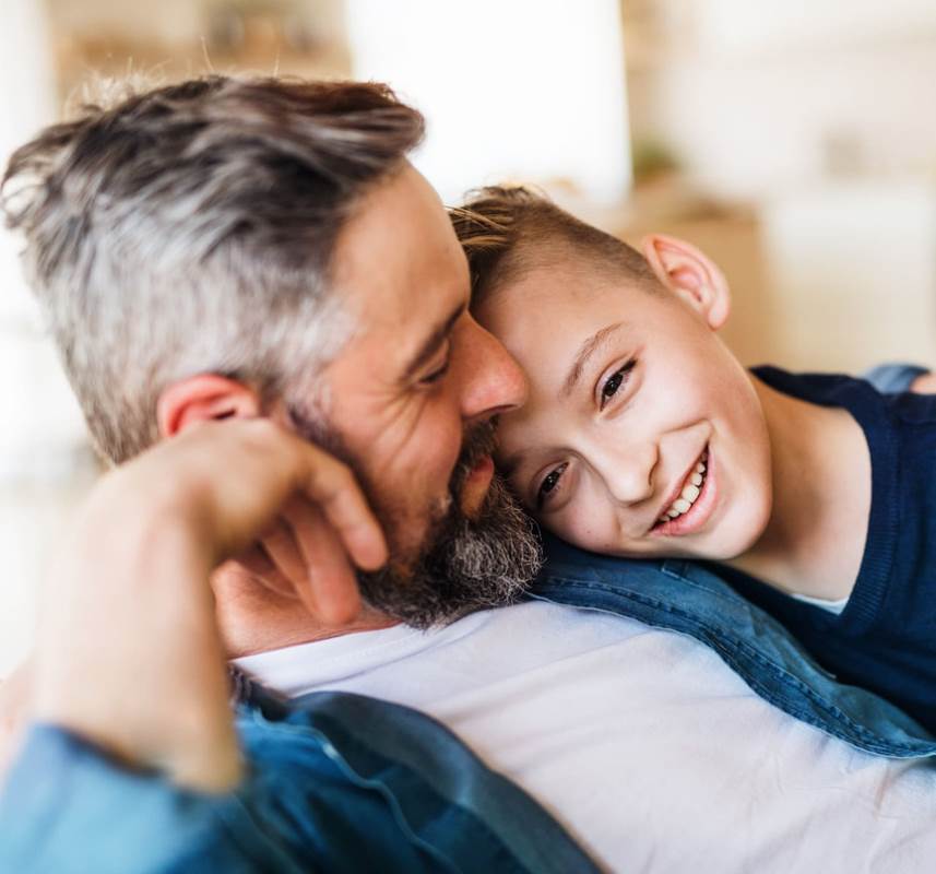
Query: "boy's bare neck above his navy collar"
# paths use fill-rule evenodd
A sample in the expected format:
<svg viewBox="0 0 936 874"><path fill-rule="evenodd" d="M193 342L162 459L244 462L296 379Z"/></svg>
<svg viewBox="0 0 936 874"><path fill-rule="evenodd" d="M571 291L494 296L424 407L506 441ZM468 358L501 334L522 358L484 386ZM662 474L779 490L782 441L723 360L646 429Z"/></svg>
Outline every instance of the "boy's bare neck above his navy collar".
<svg viewBox="0 0 936 874"><path fill-rule="evenodd" d="M770 436L773 506L763 534L727 564L786 592L851 594L870 511L870 456L838 408L783 394L751 376Z"/></svg>

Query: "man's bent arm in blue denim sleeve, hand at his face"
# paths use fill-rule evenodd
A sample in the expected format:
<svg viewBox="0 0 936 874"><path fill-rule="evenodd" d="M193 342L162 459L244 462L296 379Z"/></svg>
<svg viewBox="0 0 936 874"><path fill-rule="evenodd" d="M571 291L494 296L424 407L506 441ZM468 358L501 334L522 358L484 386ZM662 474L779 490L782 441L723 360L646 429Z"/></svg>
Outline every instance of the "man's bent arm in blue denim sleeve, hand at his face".
<svg viewBox="0 0 936 874"><path fill-rule="evenodd" d="M291 710L254 690L241 777L208 572L297 495L355 564L384 560L347 471L269 426L200 426L95 489L42 610L0 871L595 871L522 790L406 708L323 694Z"/></svg>

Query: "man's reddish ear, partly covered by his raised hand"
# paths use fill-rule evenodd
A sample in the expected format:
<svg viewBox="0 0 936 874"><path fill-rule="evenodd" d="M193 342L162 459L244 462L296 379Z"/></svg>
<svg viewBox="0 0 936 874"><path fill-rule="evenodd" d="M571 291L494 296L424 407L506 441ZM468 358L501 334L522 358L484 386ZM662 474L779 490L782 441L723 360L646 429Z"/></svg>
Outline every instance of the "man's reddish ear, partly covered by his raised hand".
<svg viewBox="0 0 936 874"><path fill-rule="evenodd" d="M199 422L259 415L260 399L252 388L215 374L199 374L174 382L156 402L161 437L171 437Z"/></svg>

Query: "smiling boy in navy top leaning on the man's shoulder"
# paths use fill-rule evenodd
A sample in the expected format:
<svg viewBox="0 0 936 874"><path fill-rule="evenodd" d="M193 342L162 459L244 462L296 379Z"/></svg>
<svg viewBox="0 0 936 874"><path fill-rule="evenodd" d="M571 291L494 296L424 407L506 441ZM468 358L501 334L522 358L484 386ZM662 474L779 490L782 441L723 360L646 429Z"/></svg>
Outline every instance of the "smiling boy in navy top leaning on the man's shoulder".
<svg viewBox="0 0 936 874"><path fill-rule="evenodd" d="M840 680L936 730L936 400L745 370L727 283L692 246L642 255L524 189L453 221L473 309L530 379L497 461L577 546L723 563Z"/></svg>

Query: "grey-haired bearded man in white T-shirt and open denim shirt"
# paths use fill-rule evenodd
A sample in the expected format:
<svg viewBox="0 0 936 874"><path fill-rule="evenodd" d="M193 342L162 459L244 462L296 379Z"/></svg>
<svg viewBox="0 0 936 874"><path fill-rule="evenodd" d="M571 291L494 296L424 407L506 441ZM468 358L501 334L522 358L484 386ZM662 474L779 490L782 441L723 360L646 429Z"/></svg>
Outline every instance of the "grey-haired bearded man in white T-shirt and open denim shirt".
<svg viewBox="0 0 936 874"><path fill-rule="evenodd" d="M8 216L92 433L123 463L54 569L0 859L592 870L558 818L608 867L789 870L830 846L848 866L879 814L898 825L878 858L909 870L933 849L936 801L914 794L932 779L849 759L687 639L540 601L482 610L514 600L536 565L488 460L486 423L524 383L467 314L464 258L403 160L419 131L376 86L211 79L93 110L14 156ZM613 601L617 571L579 579L562 560L570 600ZM644 594L675 572L630 570ZM772 664L760 645L744 653ZM225 656L298 700L241 678L235 735ZM814 704L834 692L806 680L757 687ZM554 815L435 721L376 698L457 728ZM832 696L845 717L855 701L868 704ZM880 712L903 755L932 752ZM702 731L715 722L718 739ZM782 769L761 767L768 736ZM890 740L878 749L896 754ZM648 818L664 807L678 840ZM707 807L719 822L690 828Z"/></svg>

